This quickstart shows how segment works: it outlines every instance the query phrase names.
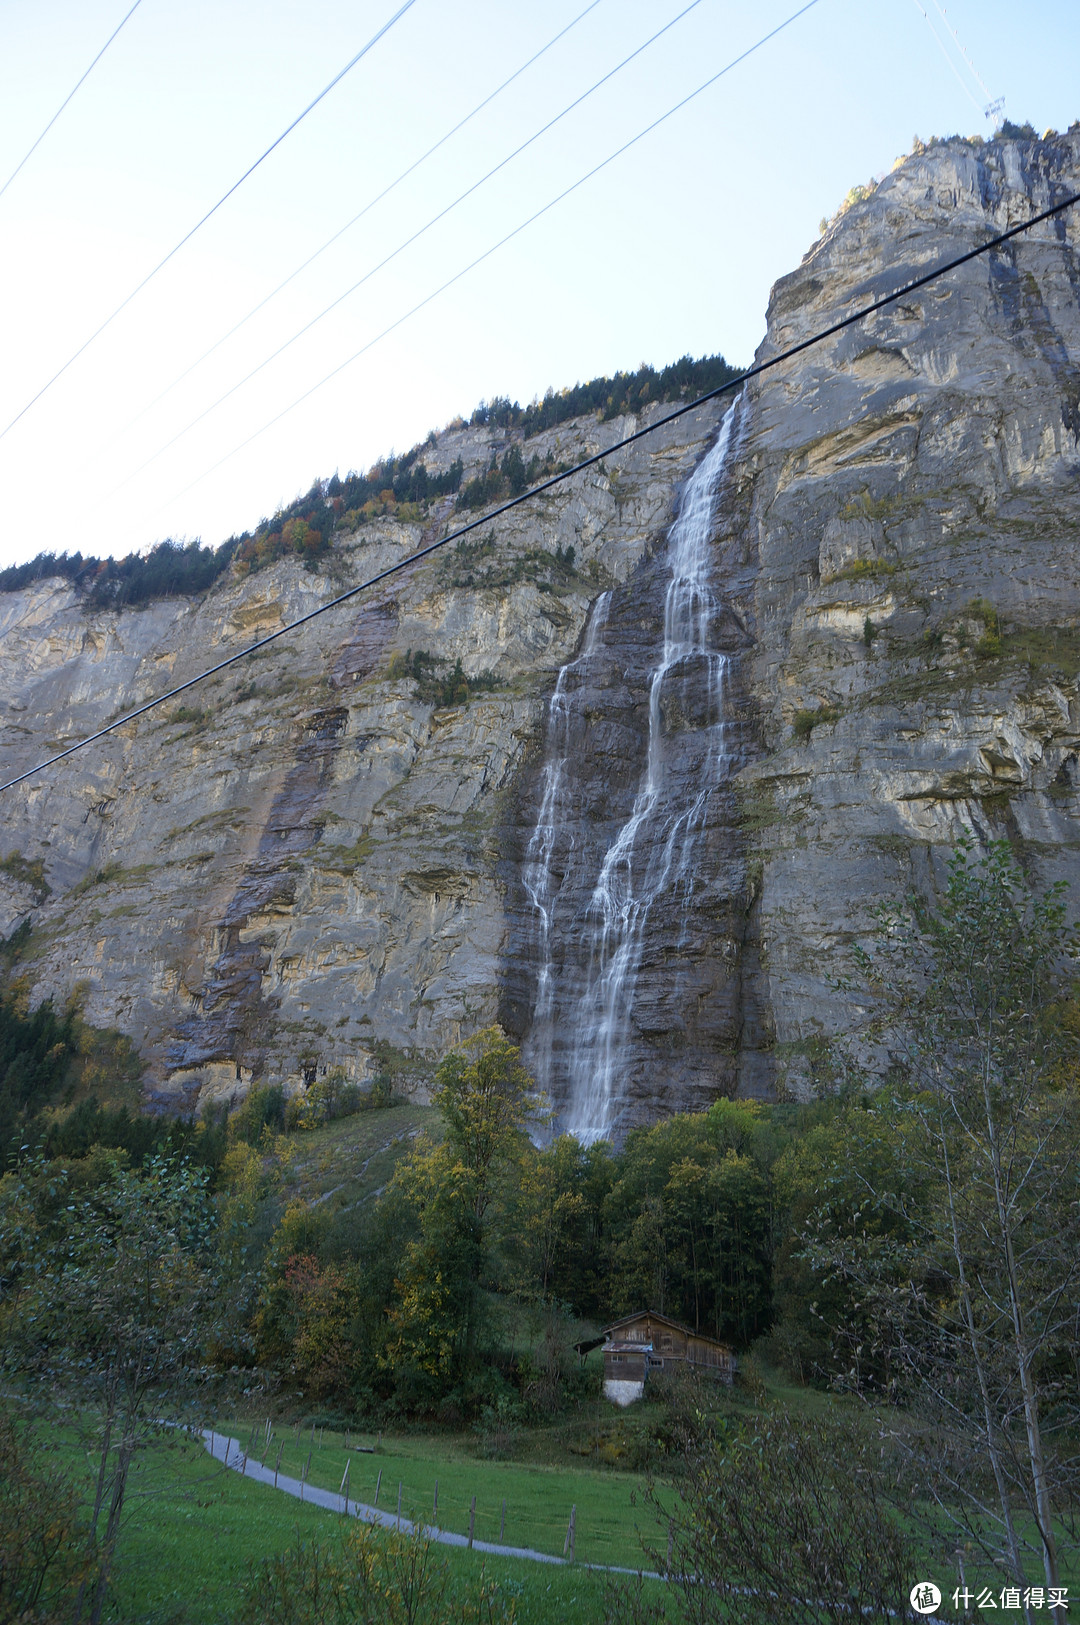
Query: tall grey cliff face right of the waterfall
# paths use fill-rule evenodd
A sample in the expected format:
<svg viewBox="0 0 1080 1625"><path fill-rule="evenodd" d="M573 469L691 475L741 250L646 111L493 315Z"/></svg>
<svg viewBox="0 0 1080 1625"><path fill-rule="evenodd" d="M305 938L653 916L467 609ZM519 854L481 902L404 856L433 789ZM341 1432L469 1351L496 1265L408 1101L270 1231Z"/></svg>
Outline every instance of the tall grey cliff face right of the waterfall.
<svg viewBox="0 0 1080 1625"><path fill-rule="evenodd" d="M1080 127L909 158L776 284L760 354L1077 190ZM859 1055L849 949L961 832L1077 897L1078 249L1072 208L750 390L739 788L781 1090L827 1082L835 1035Z"/></svg>

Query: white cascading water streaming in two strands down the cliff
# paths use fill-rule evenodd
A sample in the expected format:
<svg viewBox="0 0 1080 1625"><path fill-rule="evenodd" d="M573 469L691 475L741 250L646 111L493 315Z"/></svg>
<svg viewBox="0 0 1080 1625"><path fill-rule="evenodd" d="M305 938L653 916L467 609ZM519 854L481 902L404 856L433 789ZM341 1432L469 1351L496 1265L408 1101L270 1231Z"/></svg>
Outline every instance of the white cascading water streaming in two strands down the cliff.
<svg viewBox="0 0 1080 1625"><path fill-rule="evenodd" d="M731 450L737 411L726 414L716 444L687 481L679 518L667 538L671 569L664 600L664 640L651 673L648 751L630 816L603 858L585 918L585 975L560 986L552 921L565 876L552 868L559 832L570 822L568 749L575 676L594 656L611 595L598 600L577 660L559 673L547 720L541 808L525 861L525 889L538 921L538 986L526 1056L538 1082L559 1108L559 1128L585 1144L612 1134L619 1115L620 1058L630 1034L642 936L650 908L661 895L693 887L693 848L713 791L729 774L724 723L724 671L715 626L721 600L710 582L710 535L716 492ZM702 770L697 793L674 806L666 788L666 704L677 686L693 684L702 718ZM703 692L702 692L703 691ZM555 1060L555 1035L559 1058Z"/></svg>

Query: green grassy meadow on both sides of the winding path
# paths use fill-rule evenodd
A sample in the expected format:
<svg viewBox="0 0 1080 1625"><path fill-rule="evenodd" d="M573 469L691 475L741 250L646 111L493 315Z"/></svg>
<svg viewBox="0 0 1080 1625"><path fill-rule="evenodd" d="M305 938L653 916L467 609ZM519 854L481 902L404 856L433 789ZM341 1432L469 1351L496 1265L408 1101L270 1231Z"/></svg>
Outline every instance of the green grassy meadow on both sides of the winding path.
<svg viewBox="0 0 1080 1625"><path fill-rule="evenodd" d="M278 1438L274 1454L276 1445ZM564 1625L586 1625L603 1618L609 1581L604 1575L590 1573L586 1563L622 1560L632 1566L643 1560L635 1523L640 1519L645 1526L648 1513L635 1513L630 1506L629 1477L616 1477L612 1484L611 1476L596 1471L546 1472L476 1462L435 1440L395 1440L383 1441L383 1446L378 1458L357 1454L352 1467L356 1471L359 1461L378 1459L383 1464L380 1505L388 1505L390 1498L396 1505L396 1476L406 1476L413 1510L419 1513L427 1500L427 1485L434 1488L434 1477L438 1476L440 1523L458 1528L464 1506L468 1528L468 1500L463 1500L468 1488L477 1497L477 1539L497 1539L505 1497L508 1539L513 1534L541 1550L560 1550L565 1534L562 1508L567 1506L568 1516L567 1498L577 1500L583 1537L573 1568L487 1557L456 1547L438 1549L458 1592L463 1594L484 1571L499 1581L503 1599L513 1601L520 1625L544 1625L552 1618ZM57 1436L50 1456L75 1469L83 1462L71 1435ZM341 1441L328 1433L312 1453L310 1480L336 1490L343 1456ZM286 1451L283 1471L287 1464L299 1474L297 1458L296 1446L292 1456ZM86 1474L89 1484L89 1464ZM393 1490L388 1492L391 1477ZM374 1476L364 1492L369 1488L374 1493ZM297 1539L336 1540L344 1526L343 1518L323 1508L302 1505L270 1485L242 1479L182 1438L138 1458L128 1497L130 1516L110 1586L110 1617L125 1625L227 1625L260 1558L284 1552ZM403 1497L403 1513L408 1510Z"/></svg>

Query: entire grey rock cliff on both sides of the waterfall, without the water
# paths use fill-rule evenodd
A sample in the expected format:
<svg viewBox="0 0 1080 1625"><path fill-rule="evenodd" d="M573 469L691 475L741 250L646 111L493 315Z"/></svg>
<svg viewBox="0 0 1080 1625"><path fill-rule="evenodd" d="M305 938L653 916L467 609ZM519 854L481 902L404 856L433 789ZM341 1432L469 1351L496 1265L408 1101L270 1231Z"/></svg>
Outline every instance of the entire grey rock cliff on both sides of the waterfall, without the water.
<svg viewBox="0 0 1080 1625"><path fill-rule="evenodd" d="M778 283L760 356L1077 188L1077 128L918 153ZM719 405L6 791L0 933L32 921L31 998L83 985L177 1105L364 1077L377 1040L434 1056L495 1017L542 1050L552 965L555 1053L650 751L667 804L692 796L723 656L726 769L642 925L614 1131L721 1092L804 1095L835 1038L887 1064L866 999L838 991L875 905L939 886L963 830L1009 837L1039 882L1078 878L1078 247L1074 210L747 387L708 632L658 691L671 523ZM627 427L578 421L526 455L568 463ZM503 444L450 431L427 462L469 474ZM419 541L380 520L323 575L279 562L122 613L58 582L0 596L3 777ZM438 707L406 650L495 686ZM555 749L552 949L529 887Z"/></svg>

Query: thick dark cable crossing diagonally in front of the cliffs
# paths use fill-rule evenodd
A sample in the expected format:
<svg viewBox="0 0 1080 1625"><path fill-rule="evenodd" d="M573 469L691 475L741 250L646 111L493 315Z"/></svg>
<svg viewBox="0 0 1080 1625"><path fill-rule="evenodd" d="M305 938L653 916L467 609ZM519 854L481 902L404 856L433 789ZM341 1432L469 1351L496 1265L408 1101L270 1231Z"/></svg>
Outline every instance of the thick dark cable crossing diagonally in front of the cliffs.
<svg viewBox="0 0 1080 1625"><path fill-rule="evenodd" d="M336 598L330 598L325 604L320 604L317 609L309 609L307 614L299 616L299 619L291 621L287 626L279 627L276 632L270 632L266 637L260 637L255 644L250 644L247 648L239 650L235 655L229 655L227 660L219 660L218 665L210 666L206 671L200 671L197 678L188 678L187 682L177 684L177 687L169 689L167 694L159 694L156 699L146 700L145 705L136 707L136 710L128 712L125 717L117 717L115 722L110 722L104 728L99 728L96 733L88 734L86 739L80 739L78 744L70 744L67 751L58 751L57 756L50 756L47 760L37 762L36 767L28 767L28 770L24 774L19 774L18 778L10 778L5 785L0 785L0 793L5 790L13 790L15 785L21 785L26 778L32 778L36 774L42 774L47 767L54 767L57 762L62 762L67 756L73 756L76 751L84 749L88 744L94 744L97 739L104 739L106 734L115 733L117 728L125 728L130 722L135 722L138 717L145 717L146 712L151 712L158 705L164 705L167 700L174 700L179 694L185 694L188 689L193 689L197 682L205 682L206 678L216 676L218 671L224 671L227 666L234 666L239 660L244 660L247 655L253 655L257 650L266 648L268 644L274 644L279 637L286 637L289 632L296 632L297 627L307 626L307 622L313 621L317 616L326 614L326 611L336 609L339 604L348 603L359 593L369 592L372 587L377 587L380 582L385 582L390 575L398 575L401 570L408 570L413 564L417 564L421 559L427 559L432 552L437 552L440 548L447 548L451 541L460 541L461 536L468 536L469 531L477 530L481 525L489 525L502 514L508 514L512 509L521 507L523 502L531 502L533 497L541 496L544 491L551 491L554 486L564 484L567 479L572 479L583 470L593 468L596 463L603 463L607 457L614 457L616 452L622 452L627 445L633 445L637 440L643 440L646 436L656 434L658 429L664 429L669 422L676 422L676 419L685 418L687 413L697 411L698 406L705 406L708 401L718 400L721 395L729 395L732 390L741 388L741 385L747 384L750 379L757 379L763 372L770 372L773 367L783 366L784 361L791 361L794 356L801 356L804 351L812 349L815 344L823 343L827 338L835 338L836 333L843 333L846 328L854 327L856 322L864 322L869 315L875 315L879 310L885 310L898 299L906 299L908 294L913 294L919 288L926 288L931 283L935 283L939 278L948 275L948 271L955 271L958 266L968 265L971 260L978 260L981 255L989 254L992 249L999 249L1004 242L1012 242L1013 237L1020 237L1023 232L1031 231L1033 226L1041 226L1043 221L1054 219L1054 216L1064 213L1067 208L1072 208L1074 203L1080 203L1080 192L1072 192L1067 198L1062 198L1061 203L1054 203L1051 208L1041 210L1038 214L1033 214L1031 219L1023 221L1020 226L1010 226L1009 231L997 232L997 236L989 237L986 242L981 242L976 249L968 249L966 254L958 254L957 258L947 260L945 265L939 265L937 270L926 271L922 276L913 278L909 283L905 283L901 288L896 288L892 294L885 294L882 299L874 299L869 306L864 306L861 310L853 310L851 315L841 317L840 322L833 322L830 323L830 327L825 327L820 332L812 333L810 338L804 338L797 344L789 344L788 349L781 349L778 356L770 356L767 361L755 362L752 367L747 367L745 372L741 372L737 377L729 379L728 384L721 384L715 390L706 390L705 395L698 395L695 396L695 400L685 401L685 405L677 406L674 411L666 413L663 418L658 418L656 422L648 424L645 429L637 429L633 434L624 436L622 440L616 440L614 445L609 445L604 452L594 452L593 457L583 458L580 463L575 463L573 468L565 468L560 474L551 474L549 479L541 479L541 483L538 486L531 486L529 491L523 491L520 496L510 497L508 502L500 502L499 507L492 509L489 514L469 520L468 525L461 525L458 530L448 531L440 541L429 543L427 548L419 548L416 552L411 552L408 559L400 559L396 564L388 566L385 570L378 570L377 575L370 575L365 582L361 582L359 587L351 587L346 593L339 593Z"/></svg>

